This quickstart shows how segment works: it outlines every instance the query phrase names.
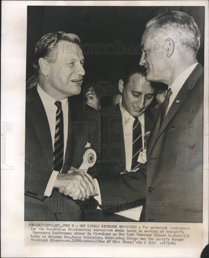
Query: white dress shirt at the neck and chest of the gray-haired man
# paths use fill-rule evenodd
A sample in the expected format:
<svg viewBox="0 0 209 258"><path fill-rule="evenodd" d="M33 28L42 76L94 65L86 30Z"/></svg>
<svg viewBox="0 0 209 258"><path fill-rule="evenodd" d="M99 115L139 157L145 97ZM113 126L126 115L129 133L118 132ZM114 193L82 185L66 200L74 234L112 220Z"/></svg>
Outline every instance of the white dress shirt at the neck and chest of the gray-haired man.
<svg viewBox="0 0 209 258"><path fill-rule="evenodd" d="M171 86L168 86L168 89L171 88L172 90L172 94L170 96L169 99L169 103L168 103L168 107L166 110L166 115L168 113L168 110L170 109L174 99L176 98L177 94L179 93L179 91L181 90L181 87L183 86L183 84L185 83L185 81L187 80L187 78L190 76L191 72L195 69L195 67L197 66L198 63L194 63L193 65L191 65L190 67L188 67L185 71L183 71L172 83Z"/></svg>

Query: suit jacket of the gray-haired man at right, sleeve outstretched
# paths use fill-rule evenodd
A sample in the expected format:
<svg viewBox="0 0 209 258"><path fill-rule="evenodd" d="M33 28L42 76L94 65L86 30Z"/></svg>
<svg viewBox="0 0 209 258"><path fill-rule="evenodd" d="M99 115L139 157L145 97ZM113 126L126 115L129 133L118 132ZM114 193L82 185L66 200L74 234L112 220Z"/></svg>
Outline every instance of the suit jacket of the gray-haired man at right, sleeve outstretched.
<svg viewBox="0 0 209 258"><path fill-rule="evenodd" d="M98 179L103 208L110 201L146 198L145 221L202 222L203 68L192 71L147 147L146 182L141 172Z"/></svg>

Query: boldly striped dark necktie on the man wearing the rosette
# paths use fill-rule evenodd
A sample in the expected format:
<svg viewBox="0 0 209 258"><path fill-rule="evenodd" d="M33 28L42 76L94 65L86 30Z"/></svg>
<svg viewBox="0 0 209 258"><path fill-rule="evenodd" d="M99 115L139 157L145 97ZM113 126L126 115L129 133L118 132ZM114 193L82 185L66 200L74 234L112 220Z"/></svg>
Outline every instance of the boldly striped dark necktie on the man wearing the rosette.
<svg viewBox="0 0 209 258"><path fill-rule="evenodd" d="M54 141L54 158L53 158L53 170L60 171L63 166L63 154L64 154L64 132L63 132L63 111L62 103L56 101L56 127L55 127L55 141Z"/></svg>

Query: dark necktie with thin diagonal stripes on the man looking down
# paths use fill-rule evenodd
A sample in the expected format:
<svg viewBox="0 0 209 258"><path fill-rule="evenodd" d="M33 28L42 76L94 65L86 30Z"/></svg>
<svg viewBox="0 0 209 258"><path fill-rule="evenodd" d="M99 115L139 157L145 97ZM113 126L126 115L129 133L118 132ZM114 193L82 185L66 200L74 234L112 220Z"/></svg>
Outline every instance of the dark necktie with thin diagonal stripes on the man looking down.
<svg viewBox="0 0 209 258"><path fill-rule="evenodd" d="M132 144L132 163L131 170L135 169L141 163L137 162L139 152L142 150L142 127L138 117L135 117L133 123L133 144Z"/></svg>

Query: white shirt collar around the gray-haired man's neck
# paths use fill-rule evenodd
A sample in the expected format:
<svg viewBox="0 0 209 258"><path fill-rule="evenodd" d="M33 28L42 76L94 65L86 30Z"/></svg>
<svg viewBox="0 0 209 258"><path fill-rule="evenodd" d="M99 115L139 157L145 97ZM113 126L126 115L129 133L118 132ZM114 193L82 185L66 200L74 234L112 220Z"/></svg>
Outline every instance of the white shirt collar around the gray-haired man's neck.
<svg viewBox="0 0 209 258"><path fill-rule="evenodd" d="M188 67L186 70L184 70L172 83L171 86L168 86L168 88L171 88L172 90L172 95L176 96L178 94L178 92L180 91L181 87L183 86L183 84L185 83L185 81L187 80L187 78L189 77L189 75L191 74L191 72L195 69L195 67L197 66L198 63L194 63L193 65L191 65L190 67Z"/></svg>

